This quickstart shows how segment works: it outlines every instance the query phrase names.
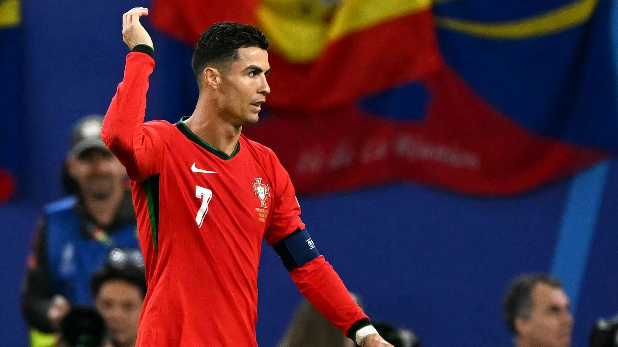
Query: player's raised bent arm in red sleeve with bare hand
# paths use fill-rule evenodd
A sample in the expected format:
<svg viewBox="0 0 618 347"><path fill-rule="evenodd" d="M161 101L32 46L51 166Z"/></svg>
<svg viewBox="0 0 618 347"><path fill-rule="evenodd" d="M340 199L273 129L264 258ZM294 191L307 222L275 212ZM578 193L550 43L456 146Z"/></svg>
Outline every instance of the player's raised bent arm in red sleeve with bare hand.
<svg viewBox="0 0 618 347"><path fill-rule="evenodd" d="M143 15L148 15L148 9L135 7L122 16L122 40L131 52L101 130L105 145L137 182L159 171L170 131L161 121L144 123L148 77L155 61L153 42L140 23Z"/></svg>

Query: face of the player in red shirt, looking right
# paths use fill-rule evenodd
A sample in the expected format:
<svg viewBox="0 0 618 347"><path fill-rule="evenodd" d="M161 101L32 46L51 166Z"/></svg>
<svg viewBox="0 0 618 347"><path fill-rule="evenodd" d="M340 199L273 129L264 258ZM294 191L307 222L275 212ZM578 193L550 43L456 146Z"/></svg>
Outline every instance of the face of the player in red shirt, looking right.
<svg viewBox="0 0 618 347"><path fill-rule="evenodd" d="M238 56L220 72L217 90L222 114L229 117L227 122L242 127L258 121L261 104L270 93L266 82L270 65L268 52L258 47L240 48Z"/></svg>

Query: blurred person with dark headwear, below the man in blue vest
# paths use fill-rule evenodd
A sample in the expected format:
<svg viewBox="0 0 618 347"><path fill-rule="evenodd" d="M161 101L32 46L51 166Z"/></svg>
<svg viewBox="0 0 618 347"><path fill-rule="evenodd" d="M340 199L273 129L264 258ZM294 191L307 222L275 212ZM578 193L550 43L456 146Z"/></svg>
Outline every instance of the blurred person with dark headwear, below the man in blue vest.
<svg viewBox="0 0 618 347"><path fill-rule="evenodd" d="M114 347L134 347L137 325L146 297L146 274L142 253L114 249L103 269L91 280L95 307L108 327Z"/></svg>

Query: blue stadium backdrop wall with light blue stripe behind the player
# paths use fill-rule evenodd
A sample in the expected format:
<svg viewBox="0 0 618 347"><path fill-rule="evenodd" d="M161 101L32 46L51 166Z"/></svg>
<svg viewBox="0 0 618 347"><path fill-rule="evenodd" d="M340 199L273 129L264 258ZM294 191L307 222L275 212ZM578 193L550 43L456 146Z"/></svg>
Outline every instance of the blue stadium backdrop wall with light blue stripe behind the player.
<svg viewBox="0 0 618 347"><path fill-rule="evenodd" d="M122 13L145 5L26 1L22 25L0 30L0 153L20 188L12 203L0 205L0 346L26 346L18 301L35 219L43 204L62 196L70 125L104 113L121 79ZM190 114L197 96L191 50L151 33L158 67L148 119L175 122ZM425 346L510 345L502 295L513 277L530 271L564 280L575 311L574 346L585 346L595 319L618 312L617 193L618 165L609 160L510 198L408 183L300 204L321 253L368 314L412 329ZM265 247L263 254L257 331L266 347L276 345L301 296L274 252Z"/></svg>

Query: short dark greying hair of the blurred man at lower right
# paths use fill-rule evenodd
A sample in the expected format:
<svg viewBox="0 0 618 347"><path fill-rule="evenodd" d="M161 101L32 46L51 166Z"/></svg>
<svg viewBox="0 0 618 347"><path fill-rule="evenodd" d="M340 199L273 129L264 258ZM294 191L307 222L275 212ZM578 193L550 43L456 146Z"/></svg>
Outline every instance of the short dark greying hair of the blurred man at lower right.
<svg viewBox="0 0 618 347"><path fill-rule="evenodd" d="M530 318L532 313L532 290L538 284L545 284L552 288L562 288L557 278L546 274L525 274L515 278L504 298L504 319L513 335L518 335L515 320Z"/></svg>

